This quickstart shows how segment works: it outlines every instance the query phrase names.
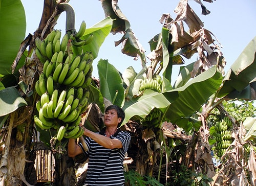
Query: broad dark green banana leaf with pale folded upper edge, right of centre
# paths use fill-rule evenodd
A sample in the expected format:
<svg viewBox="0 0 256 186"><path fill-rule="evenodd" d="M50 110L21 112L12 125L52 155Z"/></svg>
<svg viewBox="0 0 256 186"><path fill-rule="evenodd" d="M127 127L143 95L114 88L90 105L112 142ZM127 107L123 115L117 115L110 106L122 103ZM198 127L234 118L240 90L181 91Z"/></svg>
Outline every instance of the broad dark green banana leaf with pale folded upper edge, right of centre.
<svg viewBox="0 0 256 186"><path fill-rule="evenodd" d="M219 89L221 83L221 72L214 66L191 79L184 86L163 93L166 98L170 99L174 93L178 93L178 98L172 102L166 115L173 123L180 118L190 117Z"/></svg>

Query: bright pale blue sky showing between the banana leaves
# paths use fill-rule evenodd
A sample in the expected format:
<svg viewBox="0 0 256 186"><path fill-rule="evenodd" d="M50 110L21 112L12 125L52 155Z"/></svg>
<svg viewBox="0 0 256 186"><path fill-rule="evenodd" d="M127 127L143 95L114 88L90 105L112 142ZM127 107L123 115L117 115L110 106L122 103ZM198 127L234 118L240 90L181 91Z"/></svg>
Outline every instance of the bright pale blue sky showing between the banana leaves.
<svg viewBox="0 0 256 186"><path fill-rule="evenodd" d="M26 12L27 34L33 34L37 29L41 18L43 2L43 0L22 0ZM170 13L173 18L176 18L174 9L178 5L178 2L178 0L118 1L119 8L130 21L131 29L146 51L145 55L150 53L149 44L147 42L161 32L162 25L159 23L161 15L163 13ZM86 21L87 27L89 28L104 19L104 12L100 1L70 0L69 3L75 10L76 30L79 29L81 21L83 20ZM211 31L222 44L222 52L227 61L225 71L227 71L246 45L256 36L256 1L216 0L211 4L203 2L206 8L211 11L211 13L206 16L201 15L201 7L195 1L188 1L188 4L204 22L204 28ZM65 18L66 13L62 13L55 26L55 29L61 29L63 33L65 32ZM119 40L121 37L121 34L116 34L115 36L110 34L105 39L100 48L98 57L94 60L94 77L98 78L97 62L100 58L108 59L121 73L129 66L133 66L137 73L140 71L140 61L134 61L133 57L122 54L121 45L115 47L114 41ZM185 65L194 62L196 57L197 54L194 59L185 59ZM150 63L148 62L148 64ZM177 78L179 67L180 66L174 67L172 84L174 84L174 80Z"/></svg>

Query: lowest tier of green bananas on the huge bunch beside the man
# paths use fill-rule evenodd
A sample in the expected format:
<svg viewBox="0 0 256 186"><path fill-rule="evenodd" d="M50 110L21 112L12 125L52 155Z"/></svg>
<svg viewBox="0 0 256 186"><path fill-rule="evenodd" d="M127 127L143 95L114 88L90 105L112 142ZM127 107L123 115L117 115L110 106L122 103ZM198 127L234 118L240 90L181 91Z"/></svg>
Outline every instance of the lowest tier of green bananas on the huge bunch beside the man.
<svg viewBox="0 0 256 186"><path fill-rule="evenodd" d="M76 131L75 134L78 134L77 127L80 128L82 111L87 109L89 94L89 90L82 87L78 89L70 87L69 90L64 89L61 92L55 89L51 97L46 91L36 102L38 115L34 116L35 124L41 129L56 129L58 140L61 140L64 136L58 135L62 134L62 132L59 132L60 130L65 129L64 133L67 134ZM79 133L82 133L81 128ZM76 136L71 134L66 137Z"/></svg>

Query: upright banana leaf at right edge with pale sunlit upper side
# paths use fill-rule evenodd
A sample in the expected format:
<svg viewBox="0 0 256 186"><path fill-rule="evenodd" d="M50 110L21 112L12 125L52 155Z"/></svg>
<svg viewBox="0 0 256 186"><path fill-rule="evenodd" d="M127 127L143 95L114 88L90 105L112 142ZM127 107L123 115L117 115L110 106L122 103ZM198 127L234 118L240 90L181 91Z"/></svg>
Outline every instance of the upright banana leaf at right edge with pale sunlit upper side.
<svg viewBox="0 0 256 186"><path fill-rule="evenodd" d="M237 60L231 65L227 72L223 86L219 91L218 97L222 98L244 98L250 99L250 89L246 88L252 81L255 81L256 72L256 36L248 43L244 51ZM245 92L248 90L247 93ZM237 92L236 92L237 91ZM243 94L239 94L242 92ZM247 96L249 95L249 98Z"/></svg>

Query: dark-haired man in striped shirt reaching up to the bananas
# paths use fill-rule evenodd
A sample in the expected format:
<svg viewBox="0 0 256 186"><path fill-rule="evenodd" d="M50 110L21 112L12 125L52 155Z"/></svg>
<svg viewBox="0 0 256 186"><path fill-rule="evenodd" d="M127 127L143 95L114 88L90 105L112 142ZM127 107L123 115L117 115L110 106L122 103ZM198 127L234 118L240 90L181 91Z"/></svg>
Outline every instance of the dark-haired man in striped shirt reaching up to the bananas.
<svg viewBox="0 0 256 186"><path fill-rule="evenodd" d="M118 128L123 119L124 111L120 107L108 106L104 113L105 127L100 132L84 129L88 151L81 143L76 144L76 139L69 139L70 157L81 153L89 155L86 185L124 185L123 161L131 135Z"/></svg>

